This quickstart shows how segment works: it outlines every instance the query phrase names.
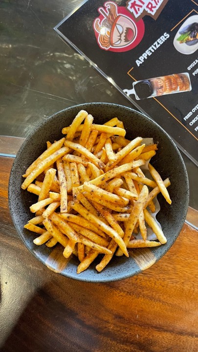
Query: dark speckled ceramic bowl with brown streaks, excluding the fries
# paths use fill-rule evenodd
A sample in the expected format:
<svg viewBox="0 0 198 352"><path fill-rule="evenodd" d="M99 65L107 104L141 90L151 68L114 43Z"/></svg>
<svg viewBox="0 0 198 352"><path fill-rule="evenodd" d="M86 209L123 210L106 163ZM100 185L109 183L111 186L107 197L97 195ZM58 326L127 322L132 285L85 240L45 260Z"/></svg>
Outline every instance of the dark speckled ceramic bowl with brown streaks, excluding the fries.
<svg viewBox="0 0 198 352"><path fill-rule="evenodd" d="M108 266L100 273L95 270L95 262L81 274L76 273L78 259L73 257L67 263L63 257L63 248L47 248L33 243L35 234L23 228L33 217L29 206L35 203L36 196L21 189L22 174L25 169L45 150L46 141L58 140L62 137L62 128L71 124L75 115L81 110L87 110L94 117L94 123L103 124L112 117L118 117L124 122L126 137L153 137L158 143L157 154L152 158L152 164L163 179L169 177L171 186L169 194L172 205L159 195L161 210L157 220L162 226L167 243L155 248L130 250L130 257L114 257ZM23 179L24 180L24 179ZM43 264L62 275L87 282L106 282L128 278L138 274L158 261L175 242L184 223L189 202L189 184L186 168L182 157L164 130L153 120L130 108L108 103L87 103L77 105L57 112L44 121L24 141L14 161L9 180L9 206L14 225L30 252ZM98 259L99 261L99 259Z"/></svg>

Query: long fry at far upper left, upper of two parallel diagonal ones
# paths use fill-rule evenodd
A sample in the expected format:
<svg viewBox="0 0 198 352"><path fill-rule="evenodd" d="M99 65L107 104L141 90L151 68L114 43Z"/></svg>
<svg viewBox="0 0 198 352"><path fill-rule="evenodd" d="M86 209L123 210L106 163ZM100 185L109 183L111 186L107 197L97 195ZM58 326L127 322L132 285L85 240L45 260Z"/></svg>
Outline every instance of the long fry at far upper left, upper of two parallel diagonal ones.
<svg viewBox="0 0 198 352"><path fill-rule="evenodd" d="M26 170L25 174L23 175L23 177L27 177L29 174L32 173L32 171L38 167L38 165L44 161L45 159L47 159L50 155L53 155L55 152L57 152L58 150L60 150L60 148L62 147L63 143L65 142L65 137L61 138L59 141L53 143L48 149L46 149L44 151L44 153L42 153ZM52 165L52 164L50 164ZM46 168L50 165L47 165ZM44 170L43 170L44 171ZM42 172L43 172L42 171ZM31 183L31 182L30 182Z"/></svg>

